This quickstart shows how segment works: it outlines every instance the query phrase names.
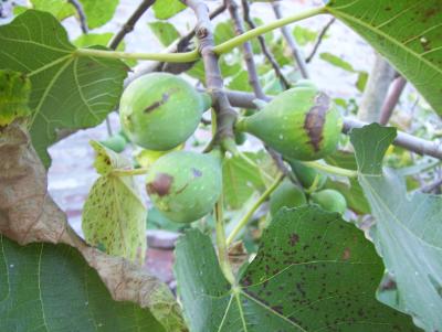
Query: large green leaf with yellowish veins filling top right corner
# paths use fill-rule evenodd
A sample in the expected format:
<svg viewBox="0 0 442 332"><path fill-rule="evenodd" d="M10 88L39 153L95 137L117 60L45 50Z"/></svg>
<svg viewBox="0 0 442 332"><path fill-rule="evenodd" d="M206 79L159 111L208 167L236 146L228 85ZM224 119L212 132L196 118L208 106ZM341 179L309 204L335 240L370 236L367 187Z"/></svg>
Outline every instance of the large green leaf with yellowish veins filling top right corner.
<svg viewBox="0 0 442 332"><path fill-rule="evenodd" d="M440 1L330 0L326 8L386 56L442 114Z"/></svg>

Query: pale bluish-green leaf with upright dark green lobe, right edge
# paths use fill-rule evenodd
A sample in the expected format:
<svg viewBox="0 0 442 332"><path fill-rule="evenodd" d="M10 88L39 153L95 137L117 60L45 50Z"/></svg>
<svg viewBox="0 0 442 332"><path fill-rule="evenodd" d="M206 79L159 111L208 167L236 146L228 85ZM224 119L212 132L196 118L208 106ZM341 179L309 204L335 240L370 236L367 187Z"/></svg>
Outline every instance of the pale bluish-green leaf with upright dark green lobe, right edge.
<svg viewBox="0 0 442 332"><path fill-rule="evenodd" d="M364 189L376 225L371 236L393 276L393 306L427 331L442 326L442 197L407 193L403 178L382 170L396 129L372 124L350 133ZM391 304L391 303L390 303Z"/></svg>

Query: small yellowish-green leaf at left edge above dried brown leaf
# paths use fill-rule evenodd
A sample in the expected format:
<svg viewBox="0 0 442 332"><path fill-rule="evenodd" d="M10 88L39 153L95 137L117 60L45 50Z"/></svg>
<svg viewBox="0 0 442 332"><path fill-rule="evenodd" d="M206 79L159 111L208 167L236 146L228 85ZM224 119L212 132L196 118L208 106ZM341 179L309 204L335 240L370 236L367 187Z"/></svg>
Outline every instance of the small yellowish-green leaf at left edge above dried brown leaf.
<svg viewBox="0 0 442 332"><path fill-rule="evenodd" d="M25 75L0 69L0 127L30 115L30 93L31 82Z"/></svg>

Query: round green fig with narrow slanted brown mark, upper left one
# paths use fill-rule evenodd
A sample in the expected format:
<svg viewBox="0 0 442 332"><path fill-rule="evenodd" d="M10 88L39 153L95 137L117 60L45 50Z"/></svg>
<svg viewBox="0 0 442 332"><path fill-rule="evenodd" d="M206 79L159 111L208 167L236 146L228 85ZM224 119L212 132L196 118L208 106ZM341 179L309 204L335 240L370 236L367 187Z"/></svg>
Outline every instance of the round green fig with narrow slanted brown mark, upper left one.
<svg viewBox="0 0 442 332"><path fill-rule="evenodd" d="M119 103L119 119L129 139L149 150L170 150L197 129L211 98L185 79L151 73L131 82Z"/></svg>

